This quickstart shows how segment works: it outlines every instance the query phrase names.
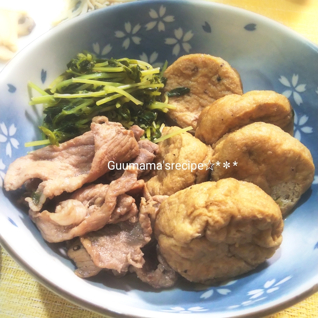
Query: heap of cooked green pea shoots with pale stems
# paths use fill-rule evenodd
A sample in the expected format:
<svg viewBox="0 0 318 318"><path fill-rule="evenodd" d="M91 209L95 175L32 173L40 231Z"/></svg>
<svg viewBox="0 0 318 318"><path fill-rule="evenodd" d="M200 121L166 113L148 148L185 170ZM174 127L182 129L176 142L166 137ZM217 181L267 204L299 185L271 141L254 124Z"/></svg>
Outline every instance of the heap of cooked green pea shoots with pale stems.
<svg viewBox="0 0 318 318"><path fill-rule="evenodd" d="M166 67L167 62L160 71L135 59L97 59L93 54L79 53L47 89L28 83L41 94L31 97L29 104L43 104L45 117L39 128L46 140L25 146L59 145L90 130L97 115L125 128L138 125L145 130L142 138L156 141L161 137L163 114L176 108L168 103L168 94L161 101Z"/></svg>

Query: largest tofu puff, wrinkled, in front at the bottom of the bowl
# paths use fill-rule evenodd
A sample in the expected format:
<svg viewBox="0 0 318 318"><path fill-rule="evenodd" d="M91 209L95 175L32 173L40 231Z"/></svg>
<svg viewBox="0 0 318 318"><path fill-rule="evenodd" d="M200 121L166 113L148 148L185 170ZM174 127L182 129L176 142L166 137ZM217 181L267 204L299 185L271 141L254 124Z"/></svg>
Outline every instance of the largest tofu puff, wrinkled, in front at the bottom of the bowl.
<svg viewBox="0 0 318 318"><path fill-rule="evenodd" d="M246 273L282 241L283 220L258 186L232 178L204 182L162 202L155 235L169 265L190 281Z"/></svg>

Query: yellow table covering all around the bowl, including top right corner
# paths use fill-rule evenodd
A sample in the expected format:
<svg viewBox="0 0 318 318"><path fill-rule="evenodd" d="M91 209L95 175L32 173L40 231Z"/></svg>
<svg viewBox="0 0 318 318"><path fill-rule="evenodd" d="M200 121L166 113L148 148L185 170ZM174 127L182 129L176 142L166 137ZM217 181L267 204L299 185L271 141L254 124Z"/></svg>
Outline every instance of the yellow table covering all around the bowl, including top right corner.
<svg viewBox="0 0 318 318"><path fill-rule="evenodd" d="M210 0L272 18L318 44L318 0ZM41 286L1 248L0 318L101 318ZM267 318L318 318L318 293Z"/></svg>

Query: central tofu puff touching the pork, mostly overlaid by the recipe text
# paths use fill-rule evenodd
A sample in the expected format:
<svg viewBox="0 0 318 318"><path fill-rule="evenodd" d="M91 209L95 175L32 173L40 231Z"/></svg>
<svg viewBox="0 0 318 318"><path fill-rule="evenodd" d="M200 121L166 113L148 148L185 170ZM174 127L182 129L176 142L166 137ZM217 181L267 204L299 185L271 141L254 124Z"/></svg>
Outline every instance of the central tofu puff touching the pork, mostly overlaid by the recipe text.
<svg viewBox="0 0 318 318"><path fill-rule="evenodd" d="M179 129L179 127L164 127L162 136ZM152 196L159 194L169 196L192 184L209 180L211 170L206 169L204 163L208 164L212 159L211 146L205 145L187 132L158 142L158 146L159 154L154 162L156 167L157 163L161 163L162 169L157 169L156 176L146 183Z"/></svg>

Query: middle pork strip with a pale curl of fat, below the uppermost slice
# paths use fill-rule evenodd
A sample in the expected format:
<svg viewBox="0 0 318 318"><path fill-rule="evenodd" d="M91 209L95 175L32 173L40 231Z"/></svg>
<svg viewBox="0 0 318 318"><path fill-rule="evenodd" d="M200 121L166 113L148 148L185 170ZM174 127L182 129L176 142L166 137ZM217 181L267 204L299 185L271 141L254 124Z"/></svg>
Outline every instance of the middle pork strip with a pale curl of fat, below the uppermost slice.
<svg viewBox="0 0 318 318"><path fill-rule="evenodd" d="M130 199L125 192L133 189L136 182L137 170L125 170L109 186L97 185L91 188L92 192L87 189L75 192L70 199L59 203L55 213L46 210L40 213L30 209L29 216L46 241L73 239L97 231L107 223L133 218L138 209L135 200Z"/></svg>

